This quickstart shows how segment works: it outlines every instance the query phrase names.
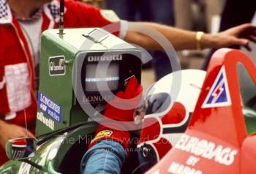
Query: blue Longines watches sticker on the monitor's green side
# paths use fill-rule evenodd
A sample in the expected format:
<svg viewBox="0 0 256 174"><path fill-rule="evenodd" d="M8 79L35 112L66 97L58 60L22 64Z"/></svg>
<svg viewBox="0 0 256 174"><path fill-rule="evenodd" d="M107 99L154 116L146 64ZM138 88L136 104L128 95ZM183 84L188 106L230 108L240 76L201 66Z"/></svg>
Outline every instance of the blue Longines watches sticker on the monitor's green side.
<svg viewBox="0 0 256 174"><path fill-rule="evenodd" d="M51 118L53 118L55 121L58 121L61 123L61 106L56 104L53 100L46 97L44 94L40 93L38 94L38 107L40 110L42 110L44 113L48 114Z"/></svg>

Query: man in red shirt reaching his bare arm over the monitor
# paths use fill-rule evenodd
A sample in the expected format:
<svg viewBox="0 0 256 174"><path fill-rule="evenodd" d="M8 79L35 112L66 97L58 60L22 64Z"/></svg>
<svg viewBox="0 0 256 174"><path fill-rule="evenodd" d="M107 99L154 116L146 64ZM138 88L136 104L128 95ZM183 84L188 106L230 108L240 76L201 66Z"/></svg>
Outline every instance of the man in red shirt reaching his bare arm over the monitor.
<svg viewBox="0 0 256 174"><path fill-rule="evenodd" d="M129 31L129 23L119 20L114 12L99 10L88 4L67 0L65 4L67 28L103 27L115 23L118 36L146 49L162 47L144 34ZM37 112L37 80L40 34L59 26L59 1L52 0L0 0L0 164L5 162L4 146L7 140L33 137ZM157 23L134 23L142 28L149 26L162 33L176 50L223 48L230 45L248 47L254 40L255 27L244 24L211 35L184 31ZM196 37L200 39L196 42ZM241 38L240 38L241 37ZM197 44L196 44L197 43ZM26 118L26 121L25 121ZM24 127L28 126L30 132Z"/></svg>

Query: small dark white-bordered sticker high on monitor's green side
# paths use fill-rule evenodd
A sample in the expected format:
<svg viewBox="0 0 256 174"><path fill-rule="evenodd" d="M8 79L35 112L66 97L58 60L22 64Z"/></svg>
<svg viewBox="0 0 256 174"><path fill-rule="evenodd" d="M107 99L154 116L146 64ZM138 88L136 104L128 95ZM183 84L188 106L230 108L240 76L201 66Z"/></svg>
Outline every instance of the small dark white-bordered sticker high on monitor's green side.
<svg viewBox="0 0 256 174"><path fill-rule="evenodd" d="M49 57L49 74L50 76L65 75L66 65L65 56Z"/></svg>

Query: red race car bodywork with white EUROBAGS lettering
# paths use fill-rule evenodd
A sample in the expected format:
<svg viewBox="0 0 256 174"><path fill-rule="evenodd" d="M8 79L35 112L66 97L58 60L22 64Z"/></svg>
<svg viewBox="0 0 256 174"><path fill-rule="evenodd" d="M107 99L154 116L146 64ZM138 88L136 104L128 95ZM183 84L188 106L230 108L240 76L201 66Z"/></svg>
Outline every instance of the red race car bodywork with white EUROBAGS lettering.
<svg viewBox="0 0 256 174"><path fill-rule="evenodd" d="M186 132L147 173L256 173L256 136L246 132L238 64L256 83L255 64L244 53L218 50Z"/></svg>

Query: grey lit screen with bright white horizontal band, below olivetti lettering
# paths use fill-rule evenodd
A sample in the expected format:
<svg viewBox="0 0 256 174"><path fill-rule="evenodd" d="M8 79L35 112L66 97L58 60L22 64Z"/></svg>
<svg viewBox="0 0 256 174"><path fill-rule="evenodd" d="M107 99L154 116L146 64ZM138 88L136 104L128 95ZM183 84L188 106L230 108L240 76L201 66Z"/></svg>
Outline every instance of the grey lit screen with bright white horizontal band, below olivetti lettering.
<svg viewBox="0 0 256 174"><path fill-rule="evenodd" d="M99 86L102 86L103 83L107 83L110 91L115 91L118 89L119 65L117 63L110 63L108 65L107 72L105 71L97 72L96 69L97 69L97 64L86 65L85 81L86 81L87 92L99 91L99 89L97 88L97 83Z"/></svg>

